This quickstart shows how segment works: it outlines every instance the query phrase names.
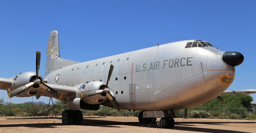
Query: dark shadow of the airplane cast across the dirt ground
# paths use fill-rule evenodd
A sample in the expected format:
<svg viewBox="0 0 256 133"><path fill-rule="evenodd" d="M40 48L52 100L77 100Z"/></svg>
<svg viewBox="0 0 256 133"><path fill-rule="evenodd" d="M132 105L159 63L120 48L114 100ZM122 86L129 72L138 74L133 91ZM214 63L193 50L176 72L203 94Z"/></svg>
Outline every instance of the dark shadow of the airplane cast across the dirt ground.
<svg viewBox="0 0 256 133"><path fill-rule="evenodd" d="M145 127L145 128L149 126L149 124L140 124L139 122L108 121L108 120L98 120L94 118L99 118L99 117L84 117L83 125L95 126L95 127L116 127L116 128L122 127L118 125L128 125L128 126ZM101 118L104 118L104 117L101 117ZM11 118L11 119L24 119L24 118ZM32 117L32 118L26 118L26 119L61 119L61 117L57 117L57 118ZM225 129L200 128L200 127L196 127L195 125L190 125L190 124L223 125L225 123L256 123L256 122L210 122L210 121L209 122L200 122L200 121L176 122L175 123L176 126L174 127L174 130L198 131L198 132L206 132L206 133L248 133L248 132L225 130ZM66 125L62 125L62 123L28 123L28 124L0 125L0 127L35 127L35 128L55 128L56 126L66 126ZM152 123L149 126L149 128L158 128L158 127L156 123Z"/></svg>

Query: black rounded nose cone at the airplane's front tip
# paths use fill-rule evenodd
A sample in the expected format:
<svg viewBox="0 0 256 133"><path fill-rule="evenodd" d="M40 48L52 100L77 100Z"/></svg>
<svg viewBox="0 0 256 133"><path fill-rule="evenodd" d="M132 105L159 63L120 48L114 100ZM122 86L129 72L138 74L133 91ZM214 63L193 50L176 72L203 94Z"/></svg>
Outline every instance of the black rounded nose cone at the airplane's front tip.
<svg viewBox="0 0 256 133"><path fill-rule="evenodd" d="M244 61L244 55L239 52L225 52L222 60L230 66L238 66Z"/></svg>

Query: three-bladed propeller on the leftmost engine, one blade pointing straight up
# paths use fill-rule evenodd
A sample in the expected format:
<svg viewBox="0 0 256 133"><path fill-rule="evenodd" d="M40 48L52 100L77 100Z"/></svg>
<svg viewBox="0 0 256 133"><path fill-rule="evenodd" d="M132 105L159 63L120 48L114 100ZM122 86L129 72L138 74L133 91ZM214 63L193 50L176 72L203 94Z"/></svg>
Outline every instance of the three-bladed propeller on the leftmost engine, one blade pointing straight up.
<svg viewBox="0 0 256 133"><path fill-rule="evenodd" d="M21 87L15 89L15 90L9 92L8 96L10 98L24 92L25 90L27 90L28 88L30 88L34 84L38 84L44 90L48 91L52 96L61 100L62 95L60 93L58 93L56 90L52 89L51 87L47 86L46 84L44 84L44 82L42 82L42 80L39 79L40 58L41 58L41 52L36 51L36 79L33 82L30 82L30 83L28 83L24 86L21 86Z"/></svg>

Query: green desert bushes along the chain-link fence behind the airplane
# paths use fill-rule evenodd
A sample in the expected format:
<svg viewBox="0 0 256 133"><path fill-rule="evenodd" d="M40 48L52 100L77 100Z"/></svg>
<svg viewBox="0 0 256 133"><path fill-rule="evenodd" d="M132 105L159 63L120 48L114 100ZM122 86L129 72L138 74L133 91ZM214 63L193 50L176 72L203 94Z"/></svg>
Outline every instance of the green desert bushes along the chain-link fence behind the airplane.
<svg viewBox="0 0 256 133"><path fill-rule="evenodd" d="M1 116L48 116L62 115L66 105L2 105L0 106ZM101 106L99 110L81 110L84 115L99 116L138 116L140 110L122 110L118 112L115 108ZM182 117L182 110L176 110L176 116ZM188 108L187 115L190 118L214 118L214 119L253 119L256 120L255 109L244 108Z"/></svg>

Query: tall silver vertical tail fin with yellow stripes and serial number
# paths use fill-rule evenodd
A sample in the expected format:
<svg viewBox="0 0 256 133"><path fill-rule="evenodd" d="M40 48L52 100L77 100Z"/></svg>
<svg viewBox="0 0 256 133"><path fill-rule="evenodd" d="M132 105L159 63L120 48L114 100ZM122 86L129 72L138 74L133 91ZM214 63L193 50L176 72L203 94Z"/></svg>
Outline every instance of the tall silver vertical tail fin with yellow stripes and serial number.
<svg viewBox="0 0 256 133"><path fill-rule="evenodd" d="M46 56L45 76L53 70L78 63L76 61L60 58L59 36L56 30L50 32L48 37Z"/></svg>

